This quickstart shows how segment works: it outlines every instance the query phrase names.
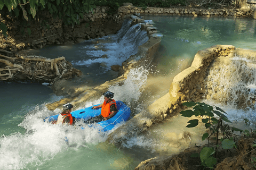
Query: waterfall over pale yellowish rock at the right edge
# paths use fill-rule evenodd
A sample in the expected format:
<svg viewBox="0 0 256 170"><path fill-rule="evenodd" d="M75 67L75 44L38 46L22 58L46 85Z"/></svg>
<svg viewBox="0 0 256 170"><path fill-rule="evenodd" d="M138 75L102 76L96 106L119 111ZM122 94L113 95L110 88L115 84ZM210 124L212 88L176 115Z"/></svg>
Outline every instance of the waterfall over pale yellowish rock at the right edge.
<svg viewBox="0 0 256 170"><path fill-rule="evenodd" d="M207 100L222 103L231 121L248 118L255 122L255 60L236 55L221 65L217 63L213 63L206 79Z"/></svg>

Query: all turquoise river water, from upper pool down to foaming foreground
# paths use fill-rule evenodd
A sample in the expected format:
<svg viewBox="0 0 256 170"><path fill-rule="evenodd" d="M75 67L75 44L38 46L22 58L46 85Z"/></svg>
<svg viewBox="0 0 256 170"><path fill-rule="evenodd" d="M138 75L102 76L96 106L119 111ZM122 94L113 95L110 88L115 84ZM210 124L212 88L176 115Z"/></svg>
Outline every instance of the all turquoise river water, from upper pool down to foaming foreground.
<svg viewBox="0 0 256 170"><path fill-rule="evenodd" d="M132 107L133 114L140 113L147 105L166 94L173 77L191 64L198 50L215 44L256 50L256 21L252 19L159 15L147 15L145 18L153 20L158 32L164 35L152 63L153 67L150 70L133 70L123 86L110 87L116 94L114 99L126 100ZM138 25L136 27L139 28ZM107 73L110 65L120 64L121 59L125 60L136 53L135 49L145 38L145 32L137 30L139 29L130 30L138 33L138 39L134 40L137 46L132 45L134 43L129 38L131 33L126 31L110 38L114 40L113 44L106 37L96 40L105 41L102 44L95 44L90 40L74 46L44 48L35 53L49 58L53 54L72 58L74 54L76 57L71 62L75 67L84 67L84 73L88 72L88 68L95 68L100 72L94 72L93 78L105 76L109 79L108 74L101 73ZM124 50L124 54L128 55L121 55L121 47L115 50L122 41L120 37L124 35L127 35L127 39L124 38L127 41L121 47L131 47L130 52L128 49ZM127 45L129 42L131 45ZM86 53L88 44L93 48L90 54ZM100 50L97 50L99 45ZM99 58L105 54L104 51L108 52L109 59ZM82 54L89 56L83 58ZM106 62L108 68L99 66L102 62ZM85 81L86 76L82 79ZM44 117L60 113L60 109L48 111L45 104L62 97L55 96L49 87L41 84L0 82L0 87L0 169L134 169L141 161L164 154L162 148L167 148L169 152L172 150L166 142L154 138L155 135L134 136L115 146L105 142L107 134L99 133L97 129L81 130L73 126L45 123ZM102 101L103 98L93 98L81 107ZM163 131L169 133L166 128L163 129L161 126L156 128L156 136L159 137ZM66 137L69 139L68 143L65 142ZM178 152L182 148L176 147L173 150Z"/></svg>

